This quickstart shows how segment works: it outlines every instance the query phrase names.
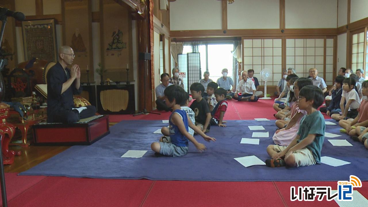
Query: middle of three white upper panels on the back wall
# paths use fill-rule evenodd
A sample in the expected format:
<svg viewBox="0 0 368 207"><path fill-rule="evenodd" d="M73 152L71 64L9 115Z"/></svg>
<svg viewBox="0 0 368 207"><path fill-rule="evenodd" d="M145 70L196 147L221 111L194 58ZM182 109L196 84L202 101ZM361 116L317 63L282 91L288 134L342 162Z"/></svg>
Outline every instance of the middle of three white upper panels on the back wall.
<svg viewBox="0 0 368 207"><path fill-rule="evenodd" d="M227 4L227 28L279 29L279 2L275 0L241 0Z"/></svg>

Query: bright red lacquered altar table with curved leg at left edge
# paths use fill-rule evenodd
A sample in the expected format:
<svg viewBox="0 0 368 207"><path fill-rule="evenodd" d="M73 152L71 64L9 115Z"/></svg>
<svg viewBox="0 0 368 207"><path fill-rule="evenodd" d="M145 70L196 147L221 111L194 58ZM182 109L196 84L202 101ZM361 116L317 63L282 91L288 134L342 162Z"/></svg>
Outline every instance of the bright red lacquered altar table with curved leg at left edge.
<svg viewBox="0 0 368 207"><path fill-rule="evenodd" d="M9 108L0 109L0 136L1 136L1 150L3 151L3 164L13 164L14 156L21 155L20 151L9 150L9 143L15 133L15 127L11 123L6 122Z"/></svg>

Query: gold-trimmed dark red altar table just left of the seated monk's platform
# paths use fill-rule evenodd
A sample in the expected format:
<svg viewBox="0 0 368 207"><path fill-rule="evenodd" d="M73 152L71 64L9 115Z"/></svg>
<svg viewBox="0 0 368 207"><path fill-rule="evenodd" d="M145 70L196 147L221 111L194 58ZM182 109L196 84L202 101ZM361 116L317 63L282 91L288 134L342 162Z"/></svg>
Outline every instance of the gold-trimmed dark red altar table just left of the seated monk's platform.
<svg viewBox="0 0 368 207"><path fill-rule="evenodd" d="M22 147L28 147L29 143L27 142L27 133L29 128L33 124L37 124L42 120L47 119L47 108L40 108L36 110L27 110L24 114L25 119L23 119L20 114L14 110L9 111L9 116L7 121L12 123L15 127L21 130L22 133L22 143L17 144L21 145Z"/></svg>

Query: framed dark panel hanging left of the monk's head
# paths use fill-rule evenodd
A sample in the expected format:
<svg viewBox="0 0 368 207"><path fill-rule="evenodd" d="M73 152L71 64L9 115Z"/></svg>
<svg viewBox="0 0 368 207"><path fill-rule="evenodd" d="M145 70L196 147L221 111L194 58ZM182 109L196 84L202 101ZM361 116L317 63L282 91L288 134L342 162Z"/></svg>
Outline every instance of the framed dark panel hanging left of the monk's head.
<svg viewBox="0 0 368 207"><path fill-rule="evenodd" d="M24 60L57 62L55 20L22 21Z"/></svg>

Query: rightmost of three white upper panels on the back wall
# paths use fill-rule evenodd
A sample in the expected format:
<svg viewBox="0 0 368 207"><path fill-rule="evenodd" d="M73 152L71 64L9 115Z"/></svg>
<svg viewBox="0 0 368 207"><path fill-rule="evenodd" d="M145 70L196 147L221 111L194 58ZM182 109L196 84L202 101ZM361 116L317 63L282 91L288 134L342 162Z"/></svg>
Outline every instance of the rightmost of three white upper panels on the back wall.
<svg viewBox="0 0 368 207"><path fill-rule="evenodd" d="M285 28L336 28L337 0L285 0Z"/></svg>

